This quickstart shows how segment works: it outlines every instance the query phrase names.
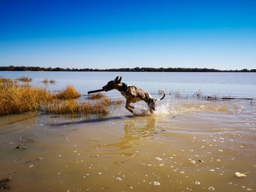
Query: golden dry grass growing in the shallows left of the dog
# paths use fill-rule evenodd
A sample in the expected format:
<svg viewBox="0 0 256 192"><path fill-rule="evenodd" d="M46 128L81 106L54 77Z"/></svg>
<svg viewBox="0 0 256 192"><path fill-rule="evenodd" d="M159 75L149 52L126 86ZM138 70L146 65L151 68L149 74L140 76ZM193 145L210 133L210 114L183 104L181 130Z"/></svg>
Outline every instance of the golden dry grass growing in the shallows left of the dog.
<svg viewBox="0 0 256 192"><path fill-rule="evenodd" d="M22 83L19 83L22 81ZM108 114L108 107L121 104L122 100L111 100L104 94L92 94L81 101L81 96L73 86L68 85L58 92L29 84L32 79L0 77L0 115L42 111L52 114ZM24 84L24 82L26 82Z"/></svg>

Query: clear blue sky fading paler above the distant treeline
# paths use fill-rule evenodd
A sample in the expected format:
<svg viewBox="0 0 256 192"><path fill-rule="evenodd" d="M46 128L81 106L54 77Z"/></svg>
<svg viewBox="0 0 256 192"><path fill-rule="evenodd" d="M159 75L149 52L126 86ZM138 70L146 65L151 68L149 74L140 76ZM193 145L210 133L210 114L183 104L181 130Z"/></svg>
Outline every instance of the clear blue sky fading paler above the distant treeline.
<svg viewBox="0 0 256 192"><path fill-rule="evenodd" d="M256 1L0 0L0 66L256 68Z"/></svg>

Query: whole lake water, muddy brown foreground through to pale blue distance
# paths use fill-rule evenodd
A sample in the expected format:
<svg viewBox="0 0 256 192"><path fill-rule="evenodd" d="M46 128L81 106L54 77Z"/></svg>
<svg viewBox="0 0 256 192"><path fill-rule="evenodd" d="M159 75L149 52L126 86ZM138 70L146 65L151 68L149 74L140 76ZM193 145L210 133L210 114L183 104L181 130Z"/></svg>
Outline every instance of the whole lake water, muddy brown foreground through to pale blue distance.
<svg viewBox="0 0 256 192"><path fill-rule="evenodd" d="M256 73L0 72L86 99L116 76L166 97L152 116L0 116L0 179L10 191L256 191ZM54 84L42 83L44 78ZM179 92L180 97L171 93ZM194 93L251 98L205 100ZM109 97L122 98L118 91ZM135 110L147 110L144 102ZM20 145L20 148L16 147ZM22 147L26 145L26 150ZM236 177L236 172L247 177ZM247 173L249 172L249 173Z"/></svg>

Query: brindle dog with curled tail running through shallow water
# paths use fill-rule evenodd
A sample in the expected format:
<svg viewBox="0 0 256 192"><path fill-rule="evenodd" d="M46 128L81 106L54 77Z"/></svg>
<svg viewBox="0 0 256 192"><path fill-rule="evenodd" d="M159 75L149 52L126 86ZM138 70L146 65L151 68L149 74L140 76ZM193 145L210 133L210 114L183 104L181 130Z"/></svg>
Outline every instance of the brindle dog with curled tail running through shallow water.
<svg viewBox="0 0 256 192"><path fill-rule="evenodd" d="M159 92L163 92L163 97L160 99L154 99L149 93L145 92L140 88L136 88L136 86L128 85L125 83L121 83L122 77L116 77L114 81L109 81L108 84L102 87L102 90L108 92L110 90L118 90L126 99L125 108L133 113L132 109L134 106L131 106L131 102L138 102L140 100L144 100L148 104L148 108L150 113L154 113L156 111L156 101L162 100L165 97L164 90L160 89Z"/></svg>

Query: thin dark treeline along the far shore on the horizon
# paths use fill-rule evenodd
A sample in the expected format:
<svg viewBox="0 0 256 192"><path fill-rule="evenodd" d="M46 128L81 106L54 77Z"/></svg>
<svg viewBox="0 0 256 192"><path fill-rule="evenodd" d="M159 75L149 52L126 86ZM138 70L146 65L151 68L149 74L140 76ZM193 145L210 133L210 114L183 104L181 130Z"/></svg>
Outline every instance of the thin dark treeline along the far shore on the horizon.
<svg viewBox="0 0 256 192"><path fill-rule="evenodd" d="M243 70L218 70L214 68L154 68L154 67L135 67L135 68L45 68L45 67L0 67L0 71L77 71L77 72L256 72L256 69L244 68Z"/></svg>

